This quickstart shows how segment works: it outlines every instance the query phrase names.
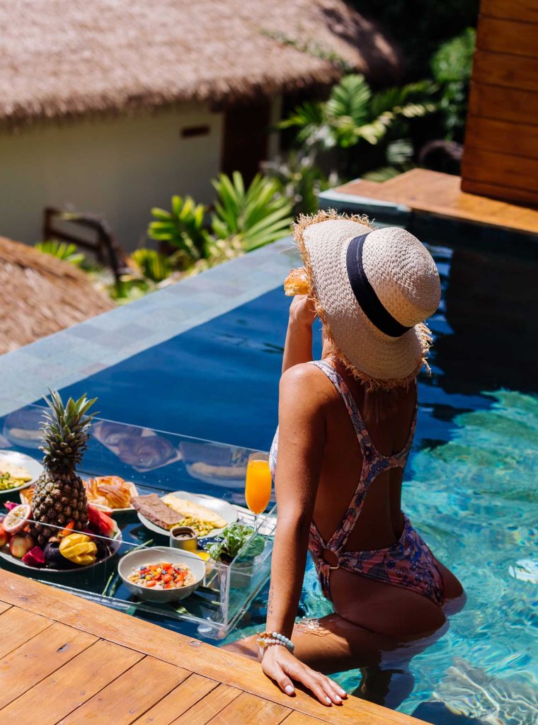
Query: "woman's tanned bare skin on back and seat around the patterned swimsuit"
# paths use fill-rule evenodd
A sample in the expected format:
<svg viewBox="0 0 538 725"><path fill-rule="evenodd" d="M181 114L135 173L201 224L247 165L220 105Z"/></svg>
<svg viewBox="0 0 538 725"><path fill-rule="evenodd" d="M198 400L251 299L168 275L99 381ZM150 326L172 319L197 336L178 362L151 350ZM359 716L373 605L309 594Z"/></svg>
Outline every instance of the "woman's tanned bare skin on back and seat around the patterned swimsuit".
<svg viewBox="0 0 538 725"><path fill-rule="evenodd" d="M376 449L383 455L400 452L413 423L415 386L383 392L379 394L382 399L376 401L376 392L366 392L365 386L355 381L343 365L332 364L355 398ZM342 523L357 489L363 461L357 434L341 397L323 373L318 376L318 385L326 394L328 405L326 447L313 518L327 541ZM378 410L384 414L378 415ZM402 468L391 468L373 481L345 550L384 549L400 539L404 525L402 476ZM444 567L442 570L447 597L460 596L463 590L458 580ZM331 600L342 618L389 637L415 637L438 629L445 621L441 608L427 597L344 569L331 573Z"/></svg>

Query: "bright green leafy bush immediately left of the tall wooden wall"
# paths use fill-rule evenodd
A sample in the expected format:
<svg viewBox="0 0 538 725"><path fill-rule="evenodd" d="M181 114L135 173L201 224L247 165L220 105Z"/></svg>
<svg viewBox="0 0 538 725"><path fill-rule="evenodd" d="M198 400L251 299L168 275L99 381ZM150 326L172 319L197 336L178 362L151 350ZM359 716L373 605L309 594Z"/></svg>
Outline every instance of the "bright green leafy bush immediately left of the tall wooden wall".
<svg viewBox="0 0 538 725"><path fill-rule="evenodd" d="M475 42L474 28L467 28L443 43L431 59L431 72L441 88L439 109L449 141L463 141Z"/></svg>

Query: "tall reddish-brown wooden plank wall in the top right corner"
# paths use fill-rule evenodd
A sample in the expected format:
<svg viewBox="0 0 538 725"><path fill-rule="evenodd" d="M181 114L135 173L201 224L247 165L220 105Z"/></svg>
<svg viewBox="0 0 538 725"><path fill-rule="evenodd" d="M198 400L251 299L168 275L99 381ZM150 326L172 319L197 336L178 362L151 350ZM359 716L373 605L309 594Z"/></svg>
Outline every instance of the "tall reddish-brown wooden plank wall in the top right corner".
<svg viewBox="0 0 538 725"><path fill-rule="evenodd" d="M538 0L482 0L461 188L538 207Z"/></svg>

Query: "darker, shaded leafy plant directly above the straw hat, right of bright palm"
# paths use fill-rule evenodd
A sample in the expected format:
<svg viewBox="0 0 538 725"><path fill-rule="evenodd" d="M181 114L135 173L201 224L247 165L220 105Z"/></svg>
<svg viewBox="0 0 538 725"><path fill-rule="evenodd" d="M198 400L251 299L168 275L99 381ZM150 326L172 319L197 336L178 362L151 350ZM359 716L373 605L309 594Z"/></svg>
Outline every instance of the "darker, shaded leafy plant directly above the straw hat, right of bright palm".
<svg viewBox="0 0 538 725"><path fill-rule="evenodd" d="M297 149L284 158L266 161L263 173L278 181L281 192L292 204L292 216L315 214L318 210L318 194L336 186L336 173L326 176L315 164L313 149Z"/></svg>

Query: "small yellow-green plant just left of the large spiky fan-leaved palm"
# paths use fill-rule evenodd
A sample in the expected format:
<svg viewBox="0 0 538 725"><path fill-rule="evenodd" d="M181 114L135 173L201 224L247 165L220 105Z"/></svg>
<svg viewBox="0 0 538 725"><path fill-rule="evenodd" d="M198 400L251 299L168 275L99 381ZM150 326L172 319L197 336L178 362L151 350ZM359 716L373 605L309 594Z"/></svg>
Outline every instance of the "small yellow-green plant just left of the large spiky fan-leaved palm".
<svg viewBox="0 0 538 725"><path fill-rule="evenodd" d="M172 197L172 210L152 208L154 221L149 223L150 239L165 242L178 249L176 262L183 266L205 256L207 230L204 228L204 204L196 204L191 196Z"/></svg>

